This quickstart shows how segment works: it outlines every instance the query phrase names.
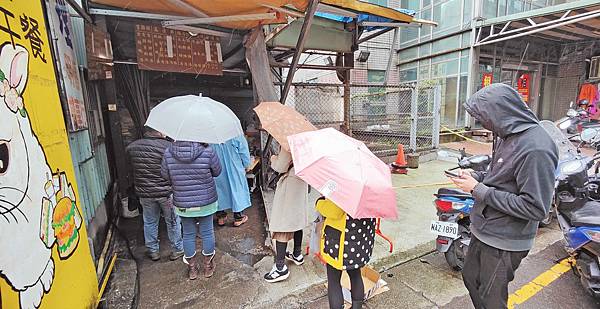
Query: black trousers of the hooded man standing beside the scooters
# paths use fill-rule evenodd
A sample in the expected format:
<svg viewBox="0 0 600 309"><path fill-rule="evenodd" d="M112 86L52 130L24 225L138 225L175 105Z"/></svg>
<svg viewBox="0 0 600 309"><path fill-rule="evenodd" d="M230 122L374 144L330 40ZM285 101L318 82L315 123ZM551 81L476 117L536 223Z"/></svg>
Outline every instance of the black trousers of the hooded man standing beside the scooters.
<svg viewBox="0 0 600 309"><path fill-rule="evenodd" d="M472 236L462 271L476 309L507 308L508 283L529 251L505 251Z"/></svg>

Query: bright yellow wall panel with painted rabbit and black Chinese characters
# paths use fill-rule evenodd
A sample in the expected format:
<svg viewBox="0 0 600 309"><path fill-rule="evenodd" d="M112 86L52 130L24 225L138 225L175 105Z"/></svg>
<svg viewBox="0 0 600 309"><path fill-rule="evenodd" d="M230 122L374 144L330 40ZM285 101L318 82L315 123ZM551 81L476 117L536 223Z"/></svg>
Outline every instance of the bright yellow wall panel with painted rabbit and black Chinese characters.
<svg viewBox="0 0 600 309"><path fill-rule="evenodd" d="M0 307L95 307L42 1L0 8Z"/></svg>

